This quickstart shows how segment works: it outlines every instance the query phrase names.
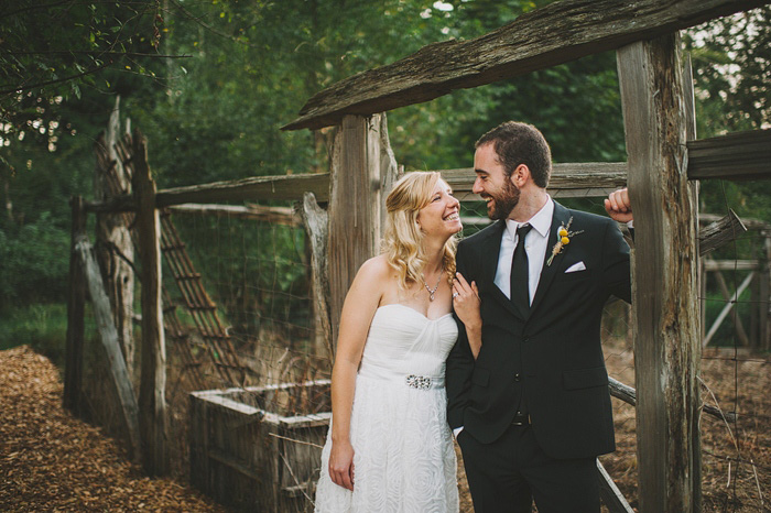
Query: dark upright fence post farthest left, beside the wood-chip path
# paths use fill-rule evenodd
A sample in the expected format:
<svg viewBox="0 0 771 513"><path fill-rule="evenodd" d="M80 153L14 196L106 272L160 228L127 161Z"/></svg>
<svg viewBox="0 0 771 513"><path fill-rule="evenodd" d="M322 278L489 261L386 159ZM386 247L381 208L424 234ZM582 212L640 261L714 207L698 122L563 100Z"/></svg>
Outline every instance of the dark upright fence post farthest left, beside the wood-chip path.
<svg viewBox="0 0 771 513"><path fill-rule="evenodd" d="M80 416L83 386L83 338L86 309L86 280L75 244L86 234L86 210L80 196L73 197L72 236L69 245L69 291L67 295L67 352L64 364L63 405Z"/></svg>

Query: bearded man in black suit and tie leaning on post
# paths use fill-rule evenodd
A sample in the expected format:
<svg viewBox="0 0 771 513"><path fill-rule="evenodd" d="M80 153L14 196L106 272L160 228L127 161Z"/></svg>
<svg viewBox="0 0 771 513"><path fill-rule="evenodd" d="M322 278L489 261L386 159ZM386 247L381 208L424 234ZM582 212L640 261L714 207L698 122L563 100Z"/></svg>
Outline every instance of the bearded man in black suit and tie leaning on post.
<svg viewBox="0 0 771 513"><path fill-rule="evenodd" d="M534 500L540 513L599 512L595 459L615 450L600 318L610 295L631 299L629 247L612 220L546 194L551 151L534 127L482 135L474 167L498 221L458 247L481 326L459 326L446 370L474 509L529 513ZM626 189L606 209L630 221ZM481 329L476 359L466 328Z"/></svg>

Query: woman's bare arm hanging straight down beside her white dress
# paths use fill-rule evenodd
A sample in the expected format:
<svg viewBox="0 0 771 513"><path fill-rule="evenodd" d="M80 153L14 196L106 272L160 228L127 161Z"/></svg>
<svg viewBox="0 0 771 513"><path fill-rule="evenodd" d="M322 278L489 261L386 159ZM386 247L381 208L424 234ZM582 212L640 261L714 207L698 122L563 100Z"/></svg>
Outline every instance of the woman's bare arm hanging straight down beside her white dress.
<svg viewBox="0 0 771 513"><path fill-rule="evenodd" d="M382 296L382 269L378 258L365 262L348 290L337 337L337 354L332 370L332 452L329 477L354 490L354 447L350 444L350 414L356 373L367 340L369 325Z"/></svg>

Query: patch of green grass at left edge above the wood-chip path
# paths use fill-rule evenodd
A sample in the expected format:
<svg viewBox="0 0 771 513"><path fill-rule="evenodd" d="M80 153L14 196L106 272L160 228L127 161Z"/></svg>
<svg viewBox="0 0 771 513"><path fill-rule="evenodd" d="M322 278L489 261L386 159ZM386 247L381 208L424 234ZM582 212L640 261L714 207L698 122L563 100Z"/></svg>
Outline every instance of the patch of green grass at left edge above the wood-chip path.
<svg viewBox="0 0 771 513"><path fill-rule="evenodd" d="M62 368L66 338L66 304L34 304L0 312L0 350L28 345Z"/></svg>

